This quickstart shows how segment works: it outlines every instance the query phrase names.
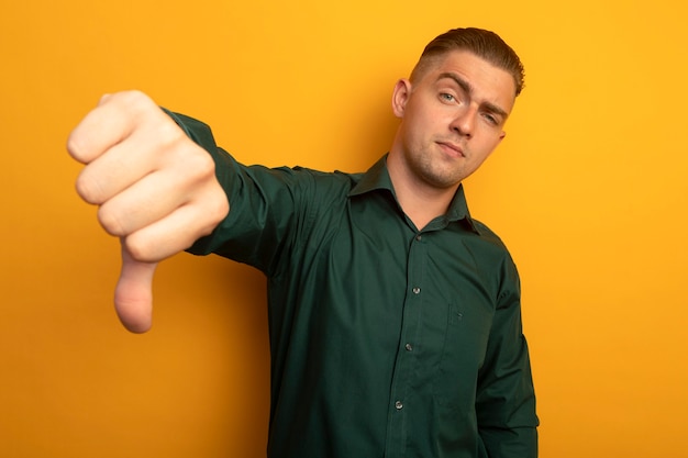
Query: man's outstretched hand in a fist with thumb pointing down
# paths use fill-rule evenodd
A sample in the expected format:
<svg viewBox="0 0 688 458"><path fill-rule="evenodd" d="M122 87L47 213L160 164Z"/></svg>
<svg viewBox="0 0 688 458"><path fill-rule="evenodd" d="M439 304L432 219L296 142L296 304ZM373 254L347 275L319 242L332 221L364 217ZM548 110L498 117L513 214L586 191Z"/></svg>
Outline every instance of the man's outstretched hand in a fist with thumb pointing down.
<svg viewBox="0 0 688 458"><path fill-rule="evenodd" d="M77 192L100 206L100 224L121 239L118 315L129 331L144 333L157 262L210 234L229 212L214 163L136 91L104 96L71 132L67 150L86 165Z"/></svg>

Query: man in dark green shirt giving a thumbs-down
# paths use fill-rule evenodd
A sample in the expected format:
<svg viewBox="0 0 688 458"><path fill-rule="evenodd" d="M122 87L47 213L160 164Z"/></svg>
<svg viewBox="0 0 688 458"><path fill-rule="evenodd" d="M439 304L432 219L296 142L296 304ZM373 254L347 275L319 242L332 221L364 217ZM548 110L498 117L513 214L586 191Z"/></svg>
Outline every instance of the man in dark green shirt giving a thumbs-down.
<svg viewBox="0 0 688 458"><path fill-rule="evenodd" d="M366 174L245 167L198 121L103 98L68 149L87 164L78 192L122 239L122 322L149 327L158 260L246 262L268 279L268 456L535 457L518 272L460 185L522 86L496 34L440 35L397 82L398 133Z"/></svg>

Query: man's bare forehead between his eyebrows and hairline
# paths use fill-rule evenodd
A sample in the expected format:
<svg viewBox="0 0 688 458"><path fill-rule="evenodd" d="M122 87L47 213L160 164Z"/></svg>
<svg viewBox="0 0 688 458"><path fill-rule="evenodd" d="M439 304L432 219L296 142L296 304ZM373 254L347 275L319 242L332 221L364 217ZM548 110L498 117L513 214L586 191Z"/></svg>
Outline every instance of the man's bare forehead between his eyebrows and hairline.
<svg viewBox="0 0 688 458"><path fill-rule="evenodd" d="M451 51L426 57L415 75L418 85L451 83L446 75L455 75L470 86L476 94L511 111L515 101L512 75L469 51Z"/></svg>

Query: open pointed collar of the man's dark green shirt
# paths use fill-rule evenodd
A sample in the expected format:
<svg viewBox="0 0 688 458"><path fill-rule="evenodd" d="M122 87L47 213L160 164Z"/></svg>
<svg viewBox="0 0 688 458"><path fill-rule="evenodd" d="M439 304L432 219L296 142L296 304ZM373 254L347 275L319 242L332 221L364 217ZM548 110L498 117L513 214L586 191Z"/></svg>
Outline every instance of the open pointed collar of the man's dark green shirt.
<svg viewBox="0 0 688 458"><path fill-rule="evenodd" d="M395 187L392 186L391 178L389 178L389 171L387 170L387 155L382 156L373 165L373 167L368 169L368 171L363 175L348 196L360 196L380 189L388 190L395 197L395 200L397 200ZM468 212L468 204L466 202L463 185L458 186L445 216L448 222L464 220L470 226L473 232L480 234L478 226L470 217L470 212Z"/></svg>

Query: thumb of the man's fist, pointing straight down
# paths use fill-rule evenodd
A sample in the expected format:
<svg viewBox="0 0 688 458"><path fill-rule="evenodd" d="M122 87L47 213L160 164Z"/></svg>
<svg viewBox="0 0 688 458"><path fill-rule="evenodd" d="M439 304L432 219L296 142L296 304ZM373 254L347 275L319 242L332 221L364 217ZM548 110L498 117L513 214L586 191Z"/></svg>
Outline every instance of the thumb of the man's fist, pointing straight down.
<svg viewBox="0 0 688 458"><path fill-rule="evenodd" d="M114 308L132 333L145 333L153 323L153 275L157 264L135 260L122 244L122 271L114 290Z"/></svg>

